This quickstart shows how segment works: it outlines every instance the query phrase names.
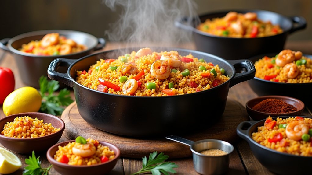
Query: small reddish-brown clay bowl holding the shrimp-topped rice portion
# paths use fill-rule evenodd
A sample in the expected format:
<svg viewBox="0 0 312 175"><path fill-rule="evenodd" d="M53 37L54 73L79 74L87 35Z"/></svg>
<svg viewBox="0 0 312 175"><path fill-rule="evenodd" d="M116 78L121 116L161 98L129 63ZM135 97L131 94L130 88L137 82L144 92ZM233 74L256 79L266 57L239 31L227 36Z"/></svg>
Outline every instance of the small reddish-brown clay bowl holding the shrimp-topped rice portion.
<svg viewBox="0 0 312 175"><path fill-rule="evenodd" d="M120 150L117 146L105 142L100 141L100 144L103 146L108 146L110 150L113 150L115 152L115 158L111 159L109 161L106 161L104 163L99 163L95 165L69 165L67 163L61 163L54 159L54 155L56 151L58 150L58 146L65 146L70 142L74 142L75 140L65 141L58 143L56 145L53 145L47 152L46 152L46 158L48 161L53 165L55 170L63 175L85 175L85 174L92 174L92 175L101 175L101 174L107 174L109 173L116 165L117 160L120 157Z"/></svg>

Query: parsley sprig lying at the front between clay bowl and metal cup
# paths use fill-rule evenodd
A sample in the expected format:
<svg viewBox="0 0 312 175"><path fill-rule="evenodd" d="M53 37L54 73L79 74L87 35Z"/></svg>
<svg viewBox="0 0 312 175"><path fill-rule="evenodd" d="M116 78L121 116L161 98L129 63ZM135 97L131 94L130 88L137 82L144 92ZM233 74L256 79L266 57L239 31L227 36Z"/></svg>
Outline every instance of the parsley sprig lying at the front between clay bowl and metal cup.
<svg viewBox="0 0 312 175"><path fill-rule="evenodd" d="M157 155L157 151L149 154L149 160L147 160L146 156L143 157L142 168L140 171L133 173L140 174L151 172L153 175L160 175L161 173L165 175L169 175L169 173L177 173L173 168L178 168L178 165L173 162L164 162L168 159L168 155L164 155L164 153L160 153Z"/></svg>

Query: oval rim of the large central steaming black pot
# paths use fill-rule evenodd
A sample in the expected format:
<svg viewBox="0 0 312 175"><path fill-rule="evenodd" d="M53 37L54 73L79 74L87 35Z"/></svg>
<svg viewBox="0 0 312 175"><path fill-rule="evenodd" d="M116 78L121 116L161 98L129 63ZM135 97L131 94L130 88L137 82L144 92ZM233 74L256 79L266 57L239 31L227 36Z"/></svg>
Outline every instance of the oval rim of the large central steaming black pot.
<svg viewBox="0 0 312 175"><path fill-rule="evenodd" d="M107 52L116 52L116 51L119 51L119 50L124 50L124 51L127 51L127 50L138 50L140 48L143 48L143 47L129 47L129 48L119 48L119 49L111 49L111 50L107 50L107 51L103 51L103 52L99 52L99 53L94 53L94 54L90 54L90 55L87 55L87 56L84 56L82 58L79 58L77 59L75 62L71 63L71 66L68 68L68 71L67 71L67 75L70 77L70 81L74 82L76 85L79 85L80 87L82 88L85 88L86 90L91 90L93 92L97 92L97 93L100 93L100 94L105 94L105 95L112 95L112 96L118 96L118 97L124 97L124 98L177 98L178 96L185 96L185 95L192 95L192 94L200 94L200 93L205 93L211 89L217 89L217 88L220 88L222 86L225 86L226 84L230 83L230 81L232 80L232 78L235 76L236 72L235 72L235 68L232 64L230 64L228 62L228 60L225 60L225 59L222 59L221 57L218 57L216 55L212 55L210 53L204 53L204 52L200 52L200 51L196 51L196 50L190 50L190 49L184 49L184 48L166 48L166 49L178 49L178 50L183 50L184 52L192 52L192 53L197 53L197 54L202 54L202 55L207 55L207 56L210 56L212 57L213 59L217 59L217 60L220 60L224 63L226 63L229 67L232 68L232 72L233 72L233 75L230 77L230 79L224 83L222 83L221 85L218 85L216 87L212 87L210 89L207 89L207 90L202 90L202 91L199 91L199 92L194 92L194 93L190 93L190 94L183 94L183 95L171 95L171 96L160 96L160 97L151 97L151 96L133 96L133 95L119 95L119 94L110 94L110 93L105 93L105 92L101 92L101 91L98 91L98 90L94 90L94 89L91 89L91 88L88 88L84 85L81 85L79 84L76 80L74 80L71 75L70 75L70 71L72 69L72 67L80 62L81 60L84 60L84 59L87 59L89 57L92 57L94 55L99 55L99 54L102 54L102 53L107 53ZM161 49L163 47L150 47L150 48L156 48L156 49ZM237 60L236 60L237 61ZM95 63L94 63L95 64ZM74 88L75 90L75 88Z"/></svg>

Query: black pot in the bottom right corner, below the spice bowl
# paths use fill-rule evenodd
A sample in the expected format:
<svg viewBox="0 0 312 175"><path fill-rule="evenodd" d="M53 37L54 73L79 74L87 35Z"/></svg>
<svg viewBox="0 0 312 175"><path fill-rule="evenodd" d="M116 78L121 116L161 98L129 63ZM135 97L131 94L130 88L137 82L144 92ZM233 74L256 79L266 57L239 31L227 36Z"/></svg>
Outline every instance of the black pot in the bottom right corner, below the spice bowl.
<svg viewBox="0 0 312 175"><path fill-rule="evenodd" d="M295 116L283 116L288 118ZM276 120L277 117L272 117ZM309 117L311 118L311 117ZM266 119L261 121L245 121L237 126L237 134L246 140L251 148L252 153L268 170L277 174L311 174L312 157L298 156L293 154L281 153L271 148L260 145L252 140L251 134L257 132L259 126L263 126Z"/></svg>

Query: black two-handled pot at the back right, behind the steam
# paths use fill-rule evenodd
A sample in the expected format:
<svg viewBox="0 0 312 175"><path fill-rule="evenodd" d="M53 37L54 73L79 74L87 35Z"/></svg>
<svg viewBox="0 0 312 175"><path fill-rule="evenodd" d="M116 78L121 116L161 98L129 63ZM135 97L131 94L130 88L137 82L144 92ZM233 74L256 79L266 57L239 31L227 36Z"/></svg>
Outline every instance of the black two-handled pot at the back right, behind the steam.
<svg viewBox="0 0 312 175"><path fill-rule="evenodd" d="M288 34L306 27L306 21L301 16L285 17L281 14L265 10L231 10L239 13L255 12L258 19L262 21L271 21L272 24L279 24L283 33L261 38L230 38L208 34L197 30L197 22L193 26L185 25L182 21L177 21L176 25L180 28L193 32L196 49L202 52L211 53L228 60L248 59L252 56L279 52L284 48ZM200 21L224 17L228 12L212 12L199 16Z"/></svg>

